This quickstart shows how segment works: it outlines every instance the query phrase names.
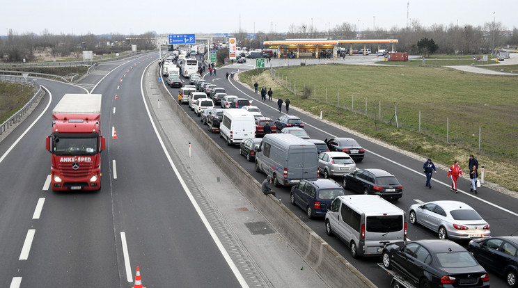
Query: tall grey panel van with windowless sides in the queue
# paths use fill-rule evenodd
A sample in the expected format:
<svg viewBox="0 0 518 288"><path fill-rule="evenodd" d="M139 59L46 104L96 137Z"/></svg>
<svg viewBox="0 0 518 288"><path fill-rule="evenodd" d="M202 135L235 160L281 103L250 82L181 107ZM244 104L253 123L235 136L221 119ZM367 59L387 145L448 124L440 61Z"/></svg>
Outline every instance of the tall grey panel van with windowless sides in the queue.
<svg viewBox="0 0 518 288"><path fill-rule="evenodd" d="M266 134L256 153L256 171L272 176L275 186L316 180L317 147L291 134Z"/></svg>

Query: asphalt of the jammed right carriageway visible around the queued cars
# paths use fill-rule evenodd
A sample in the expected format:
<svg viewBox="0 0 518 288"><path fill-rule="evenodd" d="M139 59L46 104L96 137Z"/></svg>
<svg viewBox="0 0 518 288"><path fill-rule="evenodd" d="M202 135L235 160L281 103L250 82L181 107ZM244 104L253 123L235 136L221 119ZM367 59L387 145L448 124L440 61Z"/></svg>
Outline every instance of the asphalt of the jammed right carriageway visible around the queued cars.
<svg viewBox="0 0 518 288"><path fill-rule="evenodd" d="M255 63L255 62L254 62ZM274 65L278 63L274 63ZM283 113L279 113L276 105L276 97L274 95L274 101L262 102L260 100L260 94L254 94L253 90L246 88L236 79L226 79L225 73L237 70L249 69L249 64L234 64L218 70L217 76L204 75L206 81L215 83L218 87L226 89L228 95L237 95L238 97L244 97L253 100L252 105L258 106L262 111L262 114L275 120L280 115L285 114L283 107ZM185 79L185 81L188 81ZM260 85L261 86L261 85ZM171 91L171 95L176 97L178 95L178 89L168 88ZM235 161L245 168L258 182L262 182L266 175L257 173L255 171L253 161L246 161L245 157L240 155L239 146L228 146L223 138L220 138L219 133L208 132L206 127L200 122L198 116L191 112L187 105L182 106L185 111L193 118L198 125L200 125L205 133L209 134L212 139L220 145ZM515 213L515 207L518 204L517 198L513 198L509 195L505 195L498 191L494 191L485 186L482 186L478 190L478 195L474 195L469 192L470 182L466 175L464 178L459 179L459 193L455 194L450 191L450 181L446 177L447 170L439 168L437 174L432 177L432 189L425 187L425 175L423 174L423 163L425 161L422 157L411 155L407 152L399 151L390 145L374 141L365 136L361 136L354 131L350 131L347 127L339 127L331 122L321 121L315 117L308 115L304 111L296 108L297 102L292 99L290 104L290 115L299 116L305 125L306 131L311 138L324 140L333 136L337 137L352 137L360 143L366 149L366 157L360 163L356 163L358 168L382 168L390 171L396 177L398 177L400 183L403 184L403 197L395 201L394 204L406 213L411 205L416 202L428 202L432 200L459 200L470 205L484 218L490 225L492 235L510 235L518 230L518 214ZM462 161L463 159L461 159ZM466 163L461 162L462 165L467 166ZM483 165L483 163L480 163ZM447 168L446 168L447 169ZM486 168L488 169L488 168ZM339 179L337 179L339 181ZM280 198L286 206L288 206L299 218L304 221L309 227L311 227L317 234L327 241L334 249L336 249L341 255L343 255L347 261L351 262L356 268L358 268L364 275L366 275L372 282L378 287L388 287L390 278L386 275L386 272L379 269L377 263L381 262L381 258L373 257L366 259L353 259L350 255L350 251L347 246L342 243L336 237L329 237L324 231L323 219L308 219L305 211L290 205L290 188L289 187L276 187L276 195ZM346 191L352 193L352 191ZM417 239L434 239L437 238L437 233L425 229L419 225L408 224L408 238L411 240ZM467 243L462 243L467 246ZM492 287L505 287L505 282L502 278L496 275L493 271L489 271L490 281Z"/></svg>

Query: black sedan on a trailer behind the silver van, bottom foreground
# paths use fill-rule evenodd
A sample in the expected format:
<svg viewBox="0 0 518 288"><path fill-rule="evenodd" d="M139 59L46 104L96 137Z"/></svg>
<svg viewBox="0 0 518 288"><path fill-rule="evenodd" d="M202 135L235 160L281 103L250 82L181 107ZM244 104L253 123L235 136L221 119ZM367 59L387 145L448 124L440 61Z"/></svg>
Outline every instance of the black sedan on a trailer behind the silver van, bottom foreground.
<svg viewBox="0 0 518 288"><path fill-rule="evenodd" d="M449 240L397 242L383 250L383 266L417 287L489 287L489 274L462 246Z"/></svg>

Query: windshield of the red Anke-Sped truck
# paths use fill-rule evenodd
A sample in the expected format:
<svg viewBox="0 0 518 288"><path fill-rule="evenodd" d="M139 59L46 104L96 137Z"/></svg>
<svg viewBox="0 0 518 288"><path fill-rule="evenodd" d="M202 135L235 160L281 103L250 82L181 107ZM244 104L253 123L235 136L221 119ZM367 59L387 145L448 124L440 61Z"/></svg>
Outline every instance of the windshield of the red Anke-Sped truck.
<svg viewBox="0 0 518 288"><path fill-rule="evenodd" d="M99 151L97 148L97 137L54 137L52 149L52 153L56 155L95 155Z"/></svg>

